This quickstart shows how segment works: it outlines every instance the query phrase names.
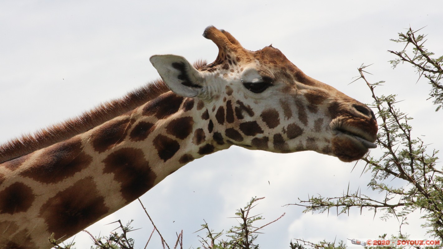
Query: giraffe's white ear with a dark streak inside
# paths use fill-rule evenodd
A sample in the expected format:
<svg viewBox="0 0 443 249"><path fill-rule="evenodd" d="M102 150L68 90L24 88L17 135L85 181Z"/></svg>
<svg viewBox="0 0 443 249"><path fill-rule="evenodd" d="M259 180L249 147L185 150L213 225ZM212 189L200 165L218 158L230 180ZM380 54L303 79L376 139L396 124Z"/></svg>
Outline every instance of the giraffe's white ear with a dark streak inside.
<svg viewBox="0 0 443 249"><path fill-rule="evenodd" d="M165 54L149 59L169 89L183 97L195 97L202 92L204 77L184 57Z"/></svg>

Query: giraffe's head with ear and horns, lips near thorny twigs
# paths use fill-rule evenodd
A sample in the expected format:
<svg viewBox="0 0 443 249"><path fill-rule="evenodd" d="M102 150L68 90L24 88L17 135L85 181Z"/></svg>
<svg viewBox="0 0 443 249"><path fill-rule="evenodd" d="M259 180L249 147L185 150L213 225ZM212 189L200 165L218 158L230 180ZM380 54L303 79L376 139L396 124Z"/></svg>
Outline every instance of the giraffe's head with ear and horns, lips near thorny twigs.
<svg viewBox="0 0 443 249"><path fill-rule="evenodd" d="M365 104L308 77L272 46L246 50L213 26L203 36L218 46L213 63L195 69L177 55L151 62L173 92L202 100L220 149L313 150L354 161L376 147L377 121Z"/></svg>

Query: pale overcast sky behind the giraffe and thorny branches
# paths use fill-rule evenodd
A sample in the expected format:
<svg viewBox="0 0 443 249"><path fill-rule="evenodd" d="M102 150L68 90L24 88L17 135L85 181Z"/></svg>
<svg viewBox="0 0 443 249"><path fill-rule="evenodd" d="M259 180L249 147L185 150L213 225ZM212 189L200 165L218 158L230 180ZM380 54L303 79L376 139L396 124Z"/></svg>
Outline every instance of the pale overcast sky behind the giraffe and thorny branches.
<svg viewBox="0 0 443 249"><path fill-rule="evenodd" d="M372 82L386 80L377 94L398 94L402 111L415 118L413 136L443 149L438 132L443 113L427 99L429 86L418 83L410 65L395 70L386 50L409 26L425 27L427 46L443 54L443 1L0 1L0 142L78 115L100 102L124 95L158 76L153 54L178 54L189 61L213 61L217 47L202 37L214 25L233 34L249 50L272 43L307 75L364 103L371 95L363 81L348 85L361 63L372 64ZM441 128L440 128L441 130ZM379 155L378 149L371 151ZM349 215L303 214L282 207L309 195L339 196L350 188L377 196L366 184L364 164L343 163L313 152L276 154L232 147L185 165L141 197L156 226L171 245L183 229L184 248L199 246L203 219L215 231L236 225L231 218L253 196L261 200L254 214L266 222L261 248L287 248L294 238L319 241L377 238L395 234L398 221L380 221L359 210ZM396 180L390 182L399 184ZM401 182L400 182L401 183ZM383 194L381 194L383 195ZM425 238L417 217L402 232ZM136 247L143 248L152 225L138 202L97 222L88 230L107 234L121 219L135 219ZM264 224L264 223L263 223ZM257 224L259 225L259 224ZM85 234L75 239L89 248ZM153 238L148 248L159 248Z"/></svg>

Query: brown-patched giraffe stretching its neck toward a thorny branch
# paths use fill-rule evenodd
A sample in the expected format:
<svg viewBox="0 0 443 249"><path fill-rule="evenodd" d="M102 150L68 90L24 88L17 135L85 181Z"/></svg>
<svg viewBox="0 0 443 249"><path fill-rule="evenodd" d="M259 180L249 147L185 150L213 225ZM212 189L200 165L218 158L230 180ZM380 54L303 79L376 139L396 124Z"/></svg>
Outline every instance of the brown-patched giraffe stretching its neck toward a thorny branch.
<svg viewBox="0 0 443 249"><path fill-rule="evenodd" d="M241 146L350 162L377 138L366 105L266 46L210 26L214 62L150 58L162 80L0 146L0 249L51 248L207 154Z"/></svg>

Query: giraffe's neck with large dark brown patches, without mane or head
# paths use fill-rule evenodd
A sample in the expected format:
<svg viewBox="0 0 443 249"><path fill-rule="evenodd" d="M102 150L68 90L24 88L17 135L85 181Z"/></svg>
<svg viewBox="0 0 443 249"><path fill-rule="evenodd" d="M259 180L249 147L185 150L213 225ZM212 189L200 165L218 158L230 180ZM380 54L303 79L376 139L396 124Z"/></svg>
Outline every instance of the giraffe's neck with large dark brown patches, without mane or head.
<svg viewBox="0 0 443 249"><path fill-rule="evenodd" d="M167 92L85 133L0 164L0 245L51 248L51 233L69 238L181 166L221 149L210 139L212 127L202 101Z"/></svg>

